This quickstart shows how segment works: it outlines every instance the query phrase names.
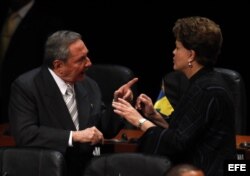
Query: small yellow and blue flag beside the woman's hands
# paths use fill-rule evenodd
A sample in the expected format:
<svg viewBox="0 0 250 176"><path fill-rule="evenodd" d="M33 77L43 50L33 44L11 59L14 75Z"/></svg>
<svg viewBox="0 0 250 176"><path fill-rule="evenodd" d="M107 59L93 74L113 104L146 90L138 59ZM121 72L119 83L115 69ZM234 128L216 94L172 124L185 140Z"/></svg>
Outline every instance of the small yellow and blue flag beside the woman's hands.
<svg viewBox="0 0 250 176"><path fill-rule="evenodd" d="M169 116L174 111L174 108L170 104L167 96L165 95L163 84L162 84L161 91L157 97L157 100L154 104L154 108L158 112L160 112L161 114L166 115L166 116Z"/></svg>

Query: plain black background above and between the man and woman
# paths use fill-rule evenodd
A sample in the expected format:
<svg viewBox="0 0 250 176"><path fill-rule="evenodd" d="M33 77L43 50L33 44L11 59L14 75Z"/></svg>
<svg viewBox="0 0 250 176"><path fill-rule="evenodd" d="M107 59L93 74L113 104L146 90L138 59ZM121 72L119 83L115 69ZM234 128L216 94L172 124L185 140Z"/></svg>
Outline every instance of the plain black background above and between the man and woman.
<svg viewBox="0 0 250 176"><path fill-rule="evenodd" d="M139 77L138 90L153 100L158 95L162 76L172 71L174 22L191 15L206 16L221 26L224 43L217 67L238 71L245 81L246 90L250 86L246 64L249 63L250 49L246 2L51 1L42 2L65 20L65 29L83 35L93 64L128 66ZM250 134L249 124L248 120Z"/></svg>

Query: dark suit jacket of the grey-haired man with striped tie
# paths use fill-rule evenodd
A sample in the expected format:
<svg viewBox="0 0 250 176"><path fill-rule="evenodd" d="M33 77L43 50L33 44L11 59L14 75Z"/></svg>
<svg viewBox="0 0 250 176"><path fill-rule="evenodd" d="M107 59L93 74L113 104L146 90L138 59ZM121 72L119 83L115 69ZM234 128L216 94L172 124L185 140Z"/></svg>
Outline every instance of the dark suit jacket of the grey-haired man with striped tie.
<svg viewBox="0 0 250 176"><path fill-rule="evenodd" d="M78 167L71 169L71 173L82 169L92 156L93 146L85 143L68 147L70 130L76 129L48 68L21 75L13 82L11 91L10 125L17 145L61 151L70 169ZM118 133L123 121L113 113L111 106L105 108L94 80L85 77L76 83L75 93L80 130L96 126L106 138Z"/></svg>

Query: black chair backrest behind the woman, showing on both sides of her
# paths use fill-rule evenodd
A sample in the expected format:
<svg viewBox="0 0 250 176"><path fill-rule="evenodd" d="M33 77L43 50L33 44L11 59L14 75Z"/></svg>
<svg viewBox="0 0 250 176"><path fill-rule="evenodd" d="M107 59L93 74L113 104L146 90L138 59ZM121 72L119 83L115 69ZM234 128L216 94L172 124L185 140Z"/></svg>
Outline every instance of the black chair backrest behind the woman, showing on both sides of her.
<svg viewBox="0 0 250 176"><path fill-rule="evenodd" d="M245 84L241 75L231 69L215 68L224 78L232 92L235 107L235 132L244 135L247 133L247 101ZM188 87L188 79L180 72L170 72L163 78L165 93L170 103L175 108L181 96Z"/></svg>

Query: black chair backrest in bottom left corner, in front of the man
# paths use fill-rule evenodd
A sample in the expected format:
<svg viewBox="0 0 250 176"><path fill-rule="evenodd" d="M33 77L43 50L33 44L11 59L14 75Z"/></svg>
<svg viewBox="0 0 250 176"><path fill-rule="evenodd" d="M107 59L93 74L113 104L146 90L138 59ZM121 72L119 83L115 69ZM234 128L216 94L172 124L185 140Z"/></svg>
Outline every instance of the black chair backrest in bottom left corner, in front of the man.
<svg viewBox="0 0 250 176"><path fill-rule="evenodd" d="M60 152L49 149L0 147L0 173L3 176L66 176L66 163Z"/></svg>

